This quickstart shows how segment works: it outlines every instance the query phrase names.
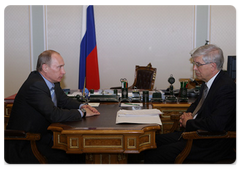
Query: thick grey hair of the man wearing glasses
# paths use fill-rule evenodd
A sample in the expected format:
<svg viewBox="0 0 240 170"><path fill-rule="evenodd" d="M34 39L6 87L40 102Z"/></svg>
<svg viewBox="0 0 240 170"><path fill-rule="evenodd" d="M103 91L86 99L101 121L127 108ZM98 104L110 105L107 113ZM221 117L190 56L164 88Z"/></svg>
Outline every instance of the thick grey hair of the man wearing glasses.
<svg viewBox="0 0 240 170"><path fill-rule="evenodd" d="M191 57L194 59L196 57L203 56L203 61L205 63L216 63L217 69L221 70L223 68L224 57L221 48L213 44L203 45L197 48Z"/></svg>

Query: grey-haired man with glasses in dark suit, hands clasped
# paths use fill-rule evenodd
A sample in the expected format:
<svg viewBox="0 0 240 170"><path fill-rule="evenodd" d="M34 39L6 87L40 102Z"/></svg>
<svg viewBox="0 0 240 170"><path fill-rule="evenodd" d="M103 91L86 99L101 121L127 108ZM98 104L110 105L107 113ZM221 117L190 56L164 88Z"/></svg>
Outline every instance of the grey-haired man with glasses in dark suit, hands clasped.
<svg viewBox="0 0 240 170"><path fill-rule="evenodd" d="M236 131L237 86L222 71L222 50L215 45L205 45L194 51L192 60L197 77L204 83L199 97L181 115L180 126L185 131ZM186 140L181 138L182 133L157 135L157 149L146 151L145 164L173 164L186 145ZM186 159L214 162L236 158L237 154L233 151L236 142L236 139L196 140Z"/></svg>

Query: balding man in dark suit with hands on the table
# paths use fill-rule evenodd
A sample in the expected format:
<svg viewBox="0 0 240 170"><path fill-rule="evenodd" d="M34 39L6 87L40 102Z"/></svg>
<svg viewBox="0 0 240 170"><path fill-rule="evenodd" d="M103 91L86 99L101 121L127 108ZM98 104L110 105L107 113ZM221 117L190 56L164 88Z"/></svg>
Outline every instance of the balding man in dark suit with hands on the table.
<svg viewBox="0 0 240 170"><path fill-rule="evenodd" d="M47 158L48 164L77 163L76 155L52 149L52 132L47 128L54 122L80 121L83 117L100 113L89 105L80 104L69 98L60 87L65 74L61 55L47 50L38 57L37 71L30 73L14 100L7 129L40 133L38 150ZM28 141L11 141L8 154L9 164L38 163Z"/></svg>

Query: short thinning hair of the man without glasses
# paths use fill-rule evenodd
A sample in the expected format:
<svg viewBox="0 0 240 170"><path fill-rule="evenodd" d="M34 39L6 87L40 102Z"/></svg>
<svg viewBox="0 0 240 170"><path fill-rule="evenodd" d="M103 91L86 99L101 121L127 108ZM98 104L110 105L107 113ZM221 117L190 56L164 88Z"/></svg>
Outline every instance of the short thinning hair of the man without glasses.
<svg viewBox="0 0 240 170"><path fill-rule="evenodd" d="M46 50L46 51L43 51L38 56L37 67L36 67L37 71L42 71L42 65L43 64L47 64L48 66L51 65L51 56L52 56L53 53L59 54L58 52L56 52L54 50Z"/></svg>

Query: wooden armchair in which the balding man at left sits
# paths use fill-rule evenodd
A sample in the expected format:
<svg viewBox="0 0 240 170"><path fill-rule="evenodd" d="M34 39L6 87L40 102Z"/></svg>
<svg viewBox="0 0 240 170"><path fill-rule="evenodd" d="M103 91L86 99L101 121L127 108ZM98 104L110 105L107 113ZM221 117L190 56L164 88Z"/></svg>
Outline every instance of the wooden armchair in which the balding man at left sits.
<svg viewBox="0 0 240 170"><path fill-rule="evenodd" d="M26 133L22 130L3 130L2 140L27 140L31 144L31 149L34 156L37 158L40 164L46 165L46 158L38 151L36 141L40 140L40 134L38 133ZM2 146L4 147L4 146Z"/></svg>

